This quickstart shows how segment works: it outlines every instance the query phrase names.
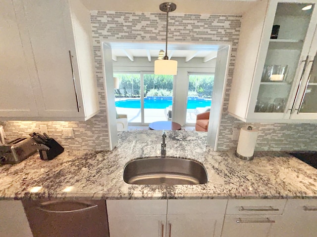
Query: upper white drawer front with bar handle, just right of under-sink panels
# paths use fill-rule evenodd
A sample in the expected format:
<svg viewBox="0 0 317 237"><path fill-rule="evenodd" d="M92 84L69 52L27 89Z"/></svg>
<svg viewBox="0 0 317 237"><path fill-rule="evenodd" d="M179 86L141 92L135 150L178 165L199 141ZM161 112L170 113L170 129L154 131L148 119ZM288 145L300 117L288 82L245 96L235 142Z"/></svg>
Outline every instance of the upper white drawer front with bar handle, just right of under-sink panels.
<svg viewBox="0 0 317 237"><path fill-rule="evenodd" d="M226 215L282 214L286 199L229 199Z"/></svg>

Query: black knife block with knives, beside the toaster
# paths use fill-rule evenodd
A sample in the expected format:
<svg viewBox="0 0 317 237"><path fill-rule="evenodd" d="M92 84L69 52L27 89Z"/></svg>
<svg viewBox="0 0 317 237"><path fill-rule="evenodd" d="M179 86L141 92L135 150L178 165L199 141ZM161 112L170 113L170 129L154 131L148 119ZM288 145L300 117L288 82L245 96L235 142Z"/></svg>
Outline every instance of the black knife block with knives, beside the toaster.
<svg viewBox="0 0 317 237"><path fill-rule="evenodd" d="M37 147L40 153L40 158L43 160L50 160L57 157L64 151L64 148L59 145L53 138L50 138L46 133L44 135L33 132L29 134L34 141L34 147Z"/></svg>

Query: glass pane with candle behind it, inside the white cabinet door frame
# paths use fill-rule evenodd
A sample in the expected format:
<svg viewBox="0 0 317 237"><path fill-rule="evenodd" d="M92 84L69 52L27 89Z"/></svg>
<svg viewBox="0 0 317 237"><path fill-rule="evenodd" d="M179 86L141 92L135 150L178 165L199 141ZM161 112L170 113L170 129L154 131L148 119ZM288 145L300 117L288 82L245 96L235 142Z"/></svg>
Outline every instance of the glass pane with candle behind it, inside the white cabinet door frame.
<svg viewBox="0 0 317 237"><path fill-rule="evenodd" d="M310 9L303 10L303 7L307 5L309 4L288 2L277 4L255 113L284 113L286 111L314 9L312 4ZM316 99L317 95L316 85L309 84L307 89L311 91L310 95L314 94L315 97L307 96L302 110L307 108L309 103L313 103L310 101Z"/></svg>

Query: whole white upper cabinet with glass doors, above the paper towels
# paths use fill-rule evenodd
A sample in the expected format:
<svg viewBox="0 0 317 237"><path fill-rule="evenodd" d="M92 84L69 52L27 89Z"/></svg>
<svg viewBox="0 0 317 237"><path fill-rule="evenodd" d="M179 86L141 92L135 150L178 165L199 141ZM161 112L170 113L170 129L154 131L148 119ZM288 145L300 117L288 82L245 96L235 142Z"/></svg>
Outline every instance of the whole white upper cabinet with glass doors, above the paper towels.
<svg viewBox="0 0 317 237"><path fill-rule="evenodd" d="M236 102L239 98L230 98L229 114L243 121L317 119L316 8L314 1L269 1L248 105L240 113L237 108L243 106ZM235 72L234 76L239 74L243 75ZM233 87L239 83L239 79L234 80ZM246 86L233 88L233 97Z"/></svg>

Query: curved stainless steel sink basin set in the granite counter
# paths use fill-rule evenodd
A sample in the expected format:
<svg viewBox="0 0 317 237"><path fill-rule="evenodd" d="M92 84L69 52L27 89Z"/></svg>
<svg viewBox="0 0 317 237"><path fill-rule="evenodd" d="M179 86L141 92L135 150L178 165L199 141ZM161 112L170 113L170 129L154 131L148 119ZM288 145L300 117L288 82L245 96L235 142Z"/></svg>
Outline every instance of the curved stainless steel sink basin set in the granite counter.
<svg viewBox="0 0 317 237"><path fill-rule="evenodd" d="M128 162L123 171L128 184L206 184L204 165L183 158L141 158Z"/></svg>

